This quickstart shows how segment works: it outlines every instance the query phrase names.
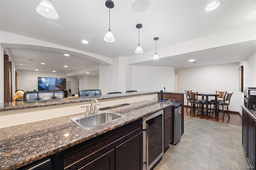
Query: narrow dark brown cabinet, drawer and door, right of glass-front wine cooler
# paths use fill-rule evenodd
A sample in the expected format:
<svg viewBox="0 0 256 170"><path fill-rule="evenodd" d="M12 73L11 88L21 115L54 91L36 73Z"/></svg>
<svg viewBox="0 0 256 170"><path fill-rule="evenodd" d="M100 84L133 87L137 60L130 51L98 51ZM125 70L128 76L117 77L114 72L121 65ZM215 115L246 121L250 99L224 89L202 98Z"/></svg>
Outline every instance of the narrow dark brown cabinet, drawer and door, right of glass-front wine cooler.
<svg viewBox="0 0 256 170"><path fill-rule="evenodd" d="M164 109L164 150L172 142L172 107Z"/></svg>

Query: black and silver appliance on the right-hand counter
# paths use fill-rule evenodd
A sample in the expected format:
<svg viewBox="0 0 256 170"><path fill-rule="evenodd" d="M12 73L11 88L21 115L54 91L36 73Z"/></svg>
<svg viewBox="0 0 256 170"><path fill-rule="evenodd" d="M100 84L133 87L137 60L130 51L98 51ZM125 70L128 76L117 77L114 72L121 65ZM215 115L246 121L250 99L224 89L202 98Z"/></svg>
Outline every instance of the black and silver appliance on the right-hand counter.
<svg viewBox="0 0 256 170"><path fill-rule="evenodd" d="M244 89L244 106L249 110L256 110L256 87Z"/></svg>

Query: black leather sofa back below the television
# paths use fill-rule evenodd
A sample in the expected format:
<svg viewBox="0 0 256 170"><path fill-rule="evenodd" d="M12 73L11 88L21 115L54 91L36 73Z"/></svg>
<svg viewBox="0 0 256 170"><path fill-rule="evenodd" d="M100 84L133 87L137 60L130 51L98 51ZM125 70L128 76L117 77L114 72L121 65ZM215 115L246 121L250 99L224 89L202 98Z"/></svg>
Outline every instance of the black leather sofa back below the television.
<svg viewBox="0 0 256 170"><path fill-rule="evenodd" d="M29 91L23 94L23 101L64 99L63 91Z"/></svg>

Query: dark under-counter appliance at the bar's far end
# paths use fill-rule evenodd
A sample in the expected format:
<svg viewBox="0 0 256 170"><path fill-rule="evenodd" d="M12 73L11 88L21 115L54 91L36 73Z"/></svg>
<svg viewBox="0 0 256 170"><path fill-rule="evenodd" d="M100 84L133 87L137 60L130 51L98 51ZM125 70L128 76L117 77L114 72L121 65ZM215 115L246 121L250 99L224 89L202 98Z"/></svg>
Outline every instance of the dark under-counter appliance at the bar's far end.
<svg viewBox="0 0 256 170"><path fill-rule="evenodd" d="M177 144L181 139L182 126L181 126L181 103L172 102L172 142Z"/></svg>

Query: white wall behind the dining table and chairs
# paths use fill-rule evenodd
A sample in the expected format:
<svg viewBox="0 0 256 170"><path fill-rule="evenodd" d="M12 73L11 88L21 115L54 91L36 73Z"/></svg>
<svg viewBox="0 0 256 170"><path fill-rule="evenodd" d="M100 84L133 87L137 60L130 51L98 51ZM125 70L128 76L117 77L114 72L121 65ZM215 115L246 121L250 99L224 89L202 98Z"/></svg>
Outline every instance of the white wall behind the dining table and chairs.
<svg viewBox="0 0 256 170"><path fill-rule="evenodd" d="M197 92L215 93L228 91L231 97L229 110L240 110L239 63L207 65L177 69L178 91L192 90ZM255 76L255 75L254 75ZM186 100L186 95L184 97ZM184 101L187 103L187 101Z"/></svg>

